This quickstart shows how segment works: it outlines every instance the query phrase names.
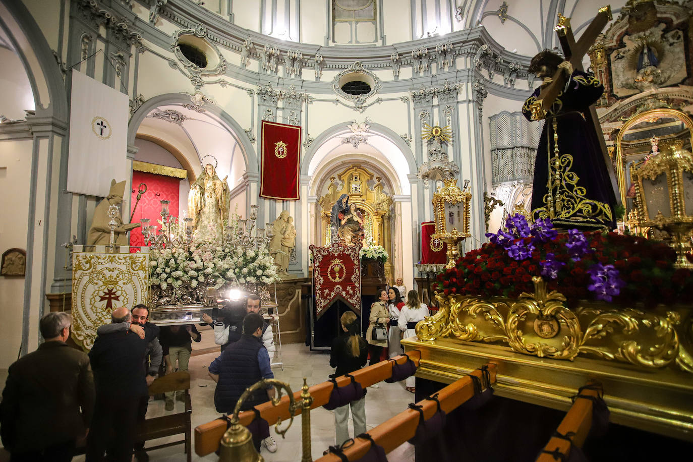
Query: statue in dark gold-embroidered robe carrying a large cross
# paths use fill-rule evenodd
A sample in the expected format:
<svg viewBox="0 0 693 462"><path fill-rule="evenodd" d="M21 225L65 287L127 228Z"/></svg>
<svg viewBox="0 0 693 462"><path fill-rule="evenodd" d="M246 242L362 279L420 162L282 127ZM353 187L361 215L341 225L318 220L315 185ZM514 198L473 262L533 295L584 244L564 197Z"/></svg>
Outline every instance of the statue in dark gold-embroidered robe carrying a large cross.
<svg viewBox="0 0 693 462"><path fill-rule="evenodd" d="M529 66L542 83L525 101L523 114L529 120L545 120L534 163L532 218L550 218L556 229L616 226L613 166L590 107L604 86L581 69L582 56L610 17L608 10L600 10L576 44L570 20L559 15L556 31L565 60L545 50Z"/></svg>

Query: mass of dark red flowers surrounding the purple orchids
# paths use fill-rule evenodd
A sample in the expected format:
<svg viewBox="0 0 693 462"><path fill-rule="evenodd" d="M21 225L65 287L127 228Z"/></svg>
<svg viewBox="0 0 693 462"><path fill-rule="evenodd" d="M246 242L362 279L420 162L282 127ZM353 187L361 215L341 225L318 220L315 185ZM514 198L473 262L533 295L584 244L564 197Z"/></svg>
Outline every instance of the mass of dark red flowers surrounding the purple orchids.
<svg viewBox="0 0 693 462"><path fill-rule="evenodd" d="M507 235L506 235L507 236ZM546 242L530 244L532 238L511 242L531 251L525 259L510 256L507 246L497 240L468 252L454 268L437 276L436 292L445 295L516 298L522 292L534 292L532 276L541 276L543 265L553 263L555 278L544 276L548 290L565 295L569 305L581 299L597 299L588 289L595 265L613 265L622 281L613 303L635 302L653 307L659 303L687 303L693 293L693 272L674 267L676 252L669 246L642 237L622 236L600 231L585 232L588 249L578 260L566 247L570 236L559 233ZM493 239L492 239L493 240ZM547 259L547 254L553 254Z"/></svg>

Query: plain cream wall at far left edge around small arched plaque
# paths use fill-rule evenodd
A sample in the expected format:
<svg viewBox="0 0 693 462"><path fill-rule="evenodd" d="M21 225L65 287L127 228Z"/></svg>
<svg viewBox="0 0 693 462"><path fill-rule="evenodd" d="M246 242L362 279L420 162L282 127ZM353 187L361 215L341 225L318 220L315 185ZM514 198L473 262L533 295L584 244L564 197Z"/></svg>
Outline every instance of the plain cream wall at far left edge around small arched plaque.
<svg viewBox="0 0 693 462"><path fill-rule="evenodd" d="M0 251L13 247L26 250L29 184L33 141L0 141ZM11 217L11 218L10 218ZM0 369L17 359L21 344L24 278L0 276Z"/></svg>

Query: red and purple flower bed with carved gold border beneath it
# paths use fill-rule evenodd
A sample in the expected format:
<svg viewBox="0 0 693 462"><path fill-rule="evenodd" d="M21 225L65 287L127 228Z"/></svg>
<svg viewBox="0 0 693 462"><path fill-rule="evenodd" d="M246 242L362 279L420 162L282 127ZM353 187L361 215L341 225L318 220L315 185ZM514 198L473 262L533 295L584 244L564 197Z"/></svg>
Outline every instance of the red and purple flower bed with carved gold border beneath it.
<svg viewBox="0 0 693 462"><path fill-rule="evenodd" d="M451 336L518 353L590 355L693 373L693 273L653 240L557 233L548 220L508 218L491 242L437 276L441 310L416 327L421 340ZM591 300L590 300L591 299Z"/></svg>

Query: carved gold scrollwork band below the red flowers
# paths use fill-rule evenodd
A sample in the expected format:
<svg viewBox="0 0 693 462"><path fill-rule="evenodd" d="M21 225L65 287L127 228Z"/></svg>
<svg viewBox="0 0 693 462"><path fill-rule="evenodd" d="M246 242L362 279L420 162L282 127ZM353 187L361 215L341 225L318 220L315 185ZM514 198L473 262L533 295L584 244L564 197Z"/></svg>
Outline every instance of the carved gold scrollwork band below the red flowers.
<svg viewBox="0 0 693 462"><path fill-rule="evenodd" d="M422 340L446 335L464 341L502 341L518 353L572 360L577 355L662 368L676 362L693 373L693 320L689 314L679 342L680 314L611 308L600 304L571 310L565 296L547 292L541 277L532 278L534 293L516 301L441 296L441 308L416 326ZM606 307L606 308L604 308Z"/></svg>

